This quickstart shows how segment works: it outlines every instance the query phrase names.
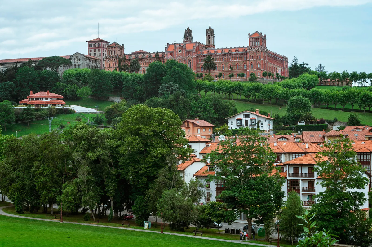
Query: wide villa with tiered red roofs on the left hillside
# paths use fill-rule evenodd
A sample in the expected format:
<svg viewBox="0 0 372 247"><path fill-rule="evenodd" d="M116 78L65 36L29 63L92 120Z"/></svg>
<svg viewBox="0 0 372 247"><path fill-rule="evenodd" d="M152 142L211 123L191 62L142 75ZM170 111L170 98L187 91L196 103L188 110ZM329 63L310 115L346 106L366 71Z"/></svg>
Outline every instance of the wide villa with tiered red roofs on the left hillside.
<svg viewBox="0 0 372 247"><path fill-rule="evenodd" d="M32 93L30 91L30 95L27 96L27 99L21 100L19 102L20 105L26 105L26 106L64 106L66 103L62 100L63 96L56 93L49 93L47 92L38 92L38 93Z"/></svg>

